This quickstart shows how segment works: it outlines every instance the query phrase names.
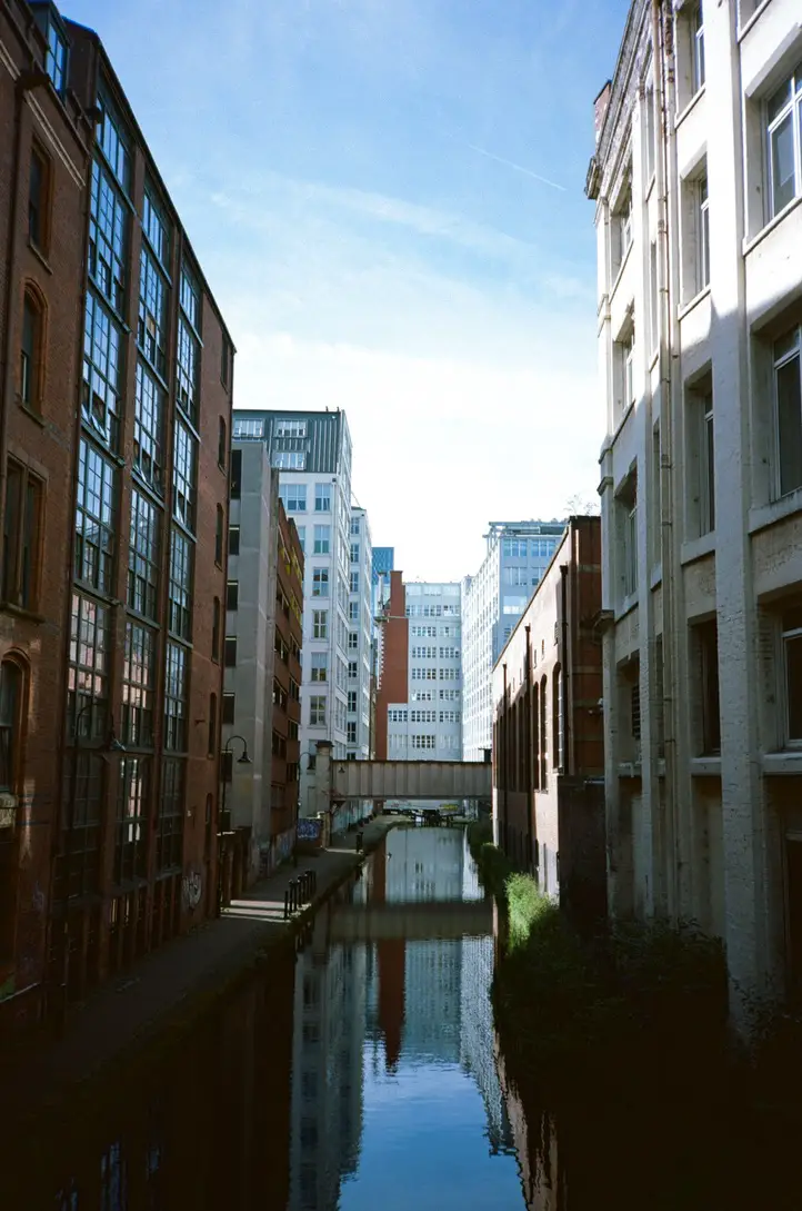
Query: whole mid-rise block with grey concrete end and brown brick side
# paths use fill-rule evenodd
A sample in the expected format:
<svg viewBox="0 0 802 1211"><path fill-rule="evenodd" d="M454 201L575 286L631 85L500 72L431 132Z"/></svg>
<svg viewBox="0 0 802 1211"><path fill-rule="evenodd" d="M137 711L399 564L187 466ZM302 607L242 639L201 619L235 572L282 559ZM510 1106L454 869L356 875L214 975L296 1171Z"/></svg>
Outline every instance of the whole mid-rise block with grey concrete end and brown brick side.
<svg viewBox="0 0 802 1211"><path fill-rule="evenodd" d="M304 553L261 442L231 449L223 744L223 896L237 895L292 848L298 765ZM249 763L242 761L243 753Z"/></svg>

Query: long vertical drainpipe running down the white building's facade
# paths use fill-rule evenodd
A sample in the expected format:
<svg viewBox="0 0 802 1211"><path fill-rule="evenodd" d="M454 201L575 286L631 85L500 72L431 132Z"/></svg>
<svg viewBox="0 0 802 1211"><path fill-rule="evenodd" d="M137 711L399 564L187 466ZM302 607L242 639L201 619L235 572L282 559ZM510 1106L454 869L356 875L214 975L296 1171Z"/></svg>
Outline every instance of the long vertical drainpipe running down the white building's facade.
<svg viewBox="0 0 802 1211"><path fill-rule="evenodd" d="M671 861L668 871L669 916L679 914L679 869L680 855L677 848L677 804L676 804L676 727L674 718L674 682L675 682L675 639L676 639L676 590L675 575L675 534L674 534L674 417L673 417L673 358L677 356L675 323L673 320L673 299L670 287L671 249L669 240L669 179L674 185L674 101L675 71L671 42L670 17L665 19L663 0L651 0L652 21L652 73L654 87L654 107L657 110L657 128L659 147L656 149L654 171L657 185L657 291L659 315L658 369L660 384L660 562L662 562L662 601L663 601L663 735L665 750L665 808L669 820L670 839L668 842ZM664 36L665 35L665 41ZM668 44L668 45L667 45ZM668 84L667 97L663 81ZM675 216L674 216L675 217ZM656 650L654 636L648 637L652 653ZM657 761L657 747L652 731L652 762ZM653 777L652 785L658 786Z"/></svg>

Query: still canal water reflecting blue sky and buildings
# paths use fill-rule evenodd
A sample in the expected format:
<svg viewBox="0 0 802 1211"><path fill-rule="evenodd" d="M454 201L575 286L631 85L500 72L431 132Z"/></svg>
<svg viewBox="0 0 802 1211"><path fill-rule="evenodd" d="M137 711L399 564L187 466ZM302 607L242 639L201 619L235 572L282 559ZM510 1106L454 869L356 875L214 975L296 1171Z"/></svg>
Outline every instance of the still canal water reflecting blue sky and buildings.
<svg viewBox="0 0 802 1211"><path fill-rule="evenodd" d="M693 1090L615 1113L588 1090L558 1118L513 1087L492 925L461 830L393 830L298 952L1 1155L1 1211L802 1207Z"/></svg>

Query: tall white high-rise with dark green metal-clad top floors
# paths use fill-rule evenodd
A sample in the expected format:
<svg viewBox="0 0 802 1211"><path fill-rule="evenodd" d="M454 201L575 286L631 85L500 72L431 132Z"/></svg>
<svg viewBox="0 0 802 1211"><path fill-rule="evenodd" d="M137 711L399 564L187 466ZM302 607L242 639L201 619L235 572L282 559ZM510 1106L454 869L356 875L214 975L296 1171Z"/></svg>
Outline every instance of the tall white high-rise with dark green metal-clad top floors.
<svg viewBox="0 0 802 1211"><path fill-rule="evenodd" d="M335 761L345 761L348 752L368 756L363 721L364 704L370 700L370 641L365 638L370 626L370 535L364 510L352 511L352 448L345 412L235 412L233 437L267 446L271 465L279 470L284 510L295 521L304 546L304 815L312 810L311 770L318 741L333 745ZM351 533L352 516L359 521L359 533L365 534L359 563L353 567L352 543L357 536ZM356 714L348 711L354 701L350 694L356 694ZM350 719L357 724L356 745L348 742L354 734Z"/></svg>

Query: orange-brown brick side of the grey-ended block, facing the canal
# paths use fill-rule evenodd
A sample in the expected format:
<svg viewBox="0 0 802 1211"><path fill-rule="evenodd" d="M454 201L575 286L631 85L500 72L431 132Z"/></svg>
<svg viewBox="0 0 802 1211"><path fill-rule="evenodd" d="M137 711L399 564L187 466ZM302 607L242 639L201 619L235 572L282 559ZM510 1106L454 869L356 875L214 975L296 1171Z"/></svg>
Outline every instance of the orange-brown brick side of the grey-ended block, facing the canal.
<svg viewBox="0 0 802 1211"><path fill-rule="evenodd" d="M278 501L278 574L273 678L285 699L273 702L273 763L270 788L271 844L294 837L299 796L301 645L304 643L304 550L295 522Z"/></svg>

